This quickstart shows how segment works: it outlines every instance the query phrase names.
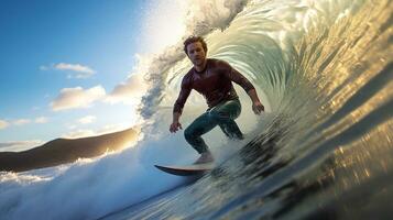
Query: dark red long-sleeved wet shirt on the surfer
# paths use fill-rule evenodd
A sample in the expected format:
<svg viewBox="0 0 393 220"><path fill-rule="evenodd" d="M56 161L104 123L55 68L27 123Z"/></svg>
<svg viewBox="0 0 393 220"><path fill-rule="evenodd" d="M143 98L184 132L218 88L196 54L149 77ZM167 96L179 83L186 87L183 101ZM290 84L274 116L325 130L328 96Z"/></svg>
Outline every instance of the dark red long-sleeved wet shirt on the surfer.
<svg viewBox="0 0 393 220"><path fill-rule="evenodd" d="M192 89L205 97L209 108L223 100L237 99L238 95L234 91L232 81L240 85L245 91L254 89L252 84L227 62L209 58L203 72L199 73L193 67L184 76L182 90L173 111L182 113Z"/></svg>

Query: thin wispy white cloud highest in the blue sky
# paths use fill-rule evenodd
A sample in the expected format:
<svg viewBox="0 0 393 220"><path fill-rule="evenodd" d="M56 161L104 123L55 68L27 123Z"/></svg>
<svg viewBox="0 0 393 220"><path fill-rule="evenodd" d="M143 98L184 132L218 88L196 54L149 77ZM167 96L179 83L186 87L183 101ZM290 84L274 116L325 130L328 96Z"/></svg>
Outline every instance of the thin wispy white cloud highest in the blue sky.
<svg viewBox="0 0 393 220"><path fill-rule="evenodd" d="M96 74L96 72L90 68L89 66L84 66L81 64L66 64L66 63L58 63L53 64L52 66L40 66L40 70L61 70L61 72L72 72L73 74L68 75L68 78L88 78Z"/></svg>

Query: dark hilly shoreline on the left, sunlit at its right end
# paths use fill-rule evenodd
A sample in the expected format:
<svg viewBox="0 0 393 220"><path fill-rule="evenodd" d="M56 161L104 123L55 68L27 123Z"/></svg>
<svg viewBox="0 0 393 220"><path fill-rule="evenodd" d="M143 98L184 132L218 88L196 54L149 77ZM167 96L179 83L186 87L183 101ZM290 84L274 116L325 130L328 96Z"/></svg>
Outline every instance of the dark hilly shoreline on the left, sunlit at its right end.
<svg viewBox="0 0 393 220"><path fill-rule="evenodd" d="M119 151L137 140L134 129L81 139L55 139L26 151L0 152L0 172L26 172L73 163Z"/></svg>

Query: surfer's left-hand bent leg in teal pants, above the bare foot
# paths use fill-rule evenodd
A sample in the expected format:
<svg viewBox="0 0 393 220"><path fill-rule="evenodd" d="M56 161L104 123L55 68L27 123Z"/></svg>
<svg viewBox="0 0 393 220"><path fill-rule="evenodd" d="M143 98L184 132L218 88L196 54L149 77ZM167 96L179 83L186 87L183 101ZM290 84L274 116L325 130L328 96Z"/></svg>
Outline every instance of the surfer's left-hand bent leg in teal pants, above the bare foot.
<svg viewBox="0 0 393 220"><path fill-rule="evenodd" d="M216 125L217 122L212 121L209 118L208 112L206 112L187 127L187 129L184 131L184 136L199 154L203 154L208 152L208 146L206 145L201 135L211 131L211 129L214 129Z"/></svg>

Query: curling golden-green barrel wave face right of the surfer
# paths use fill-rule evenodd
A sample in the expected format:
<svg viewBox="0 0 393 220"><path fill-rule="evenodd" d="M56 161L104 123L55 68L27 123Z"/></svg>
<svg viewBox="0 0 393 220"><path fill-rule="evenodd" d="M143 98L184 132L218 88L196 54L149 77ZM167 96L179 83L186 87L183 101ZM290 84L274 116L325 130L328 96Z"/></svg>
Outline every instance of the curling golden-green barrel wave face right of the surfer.
<svg viewBox="0 0 393 220"><path fill-rule="evenodd" d="M251 131L258 131L255 138L211 174L123 215L387 218L393 194L391 14L391 1L260 1L249 3L225 31L207 34L209 55L252 79L269 112ZM181 63L170 70L174 91L188 67ZM194 105L189 111L200 103Z"/></svg>

